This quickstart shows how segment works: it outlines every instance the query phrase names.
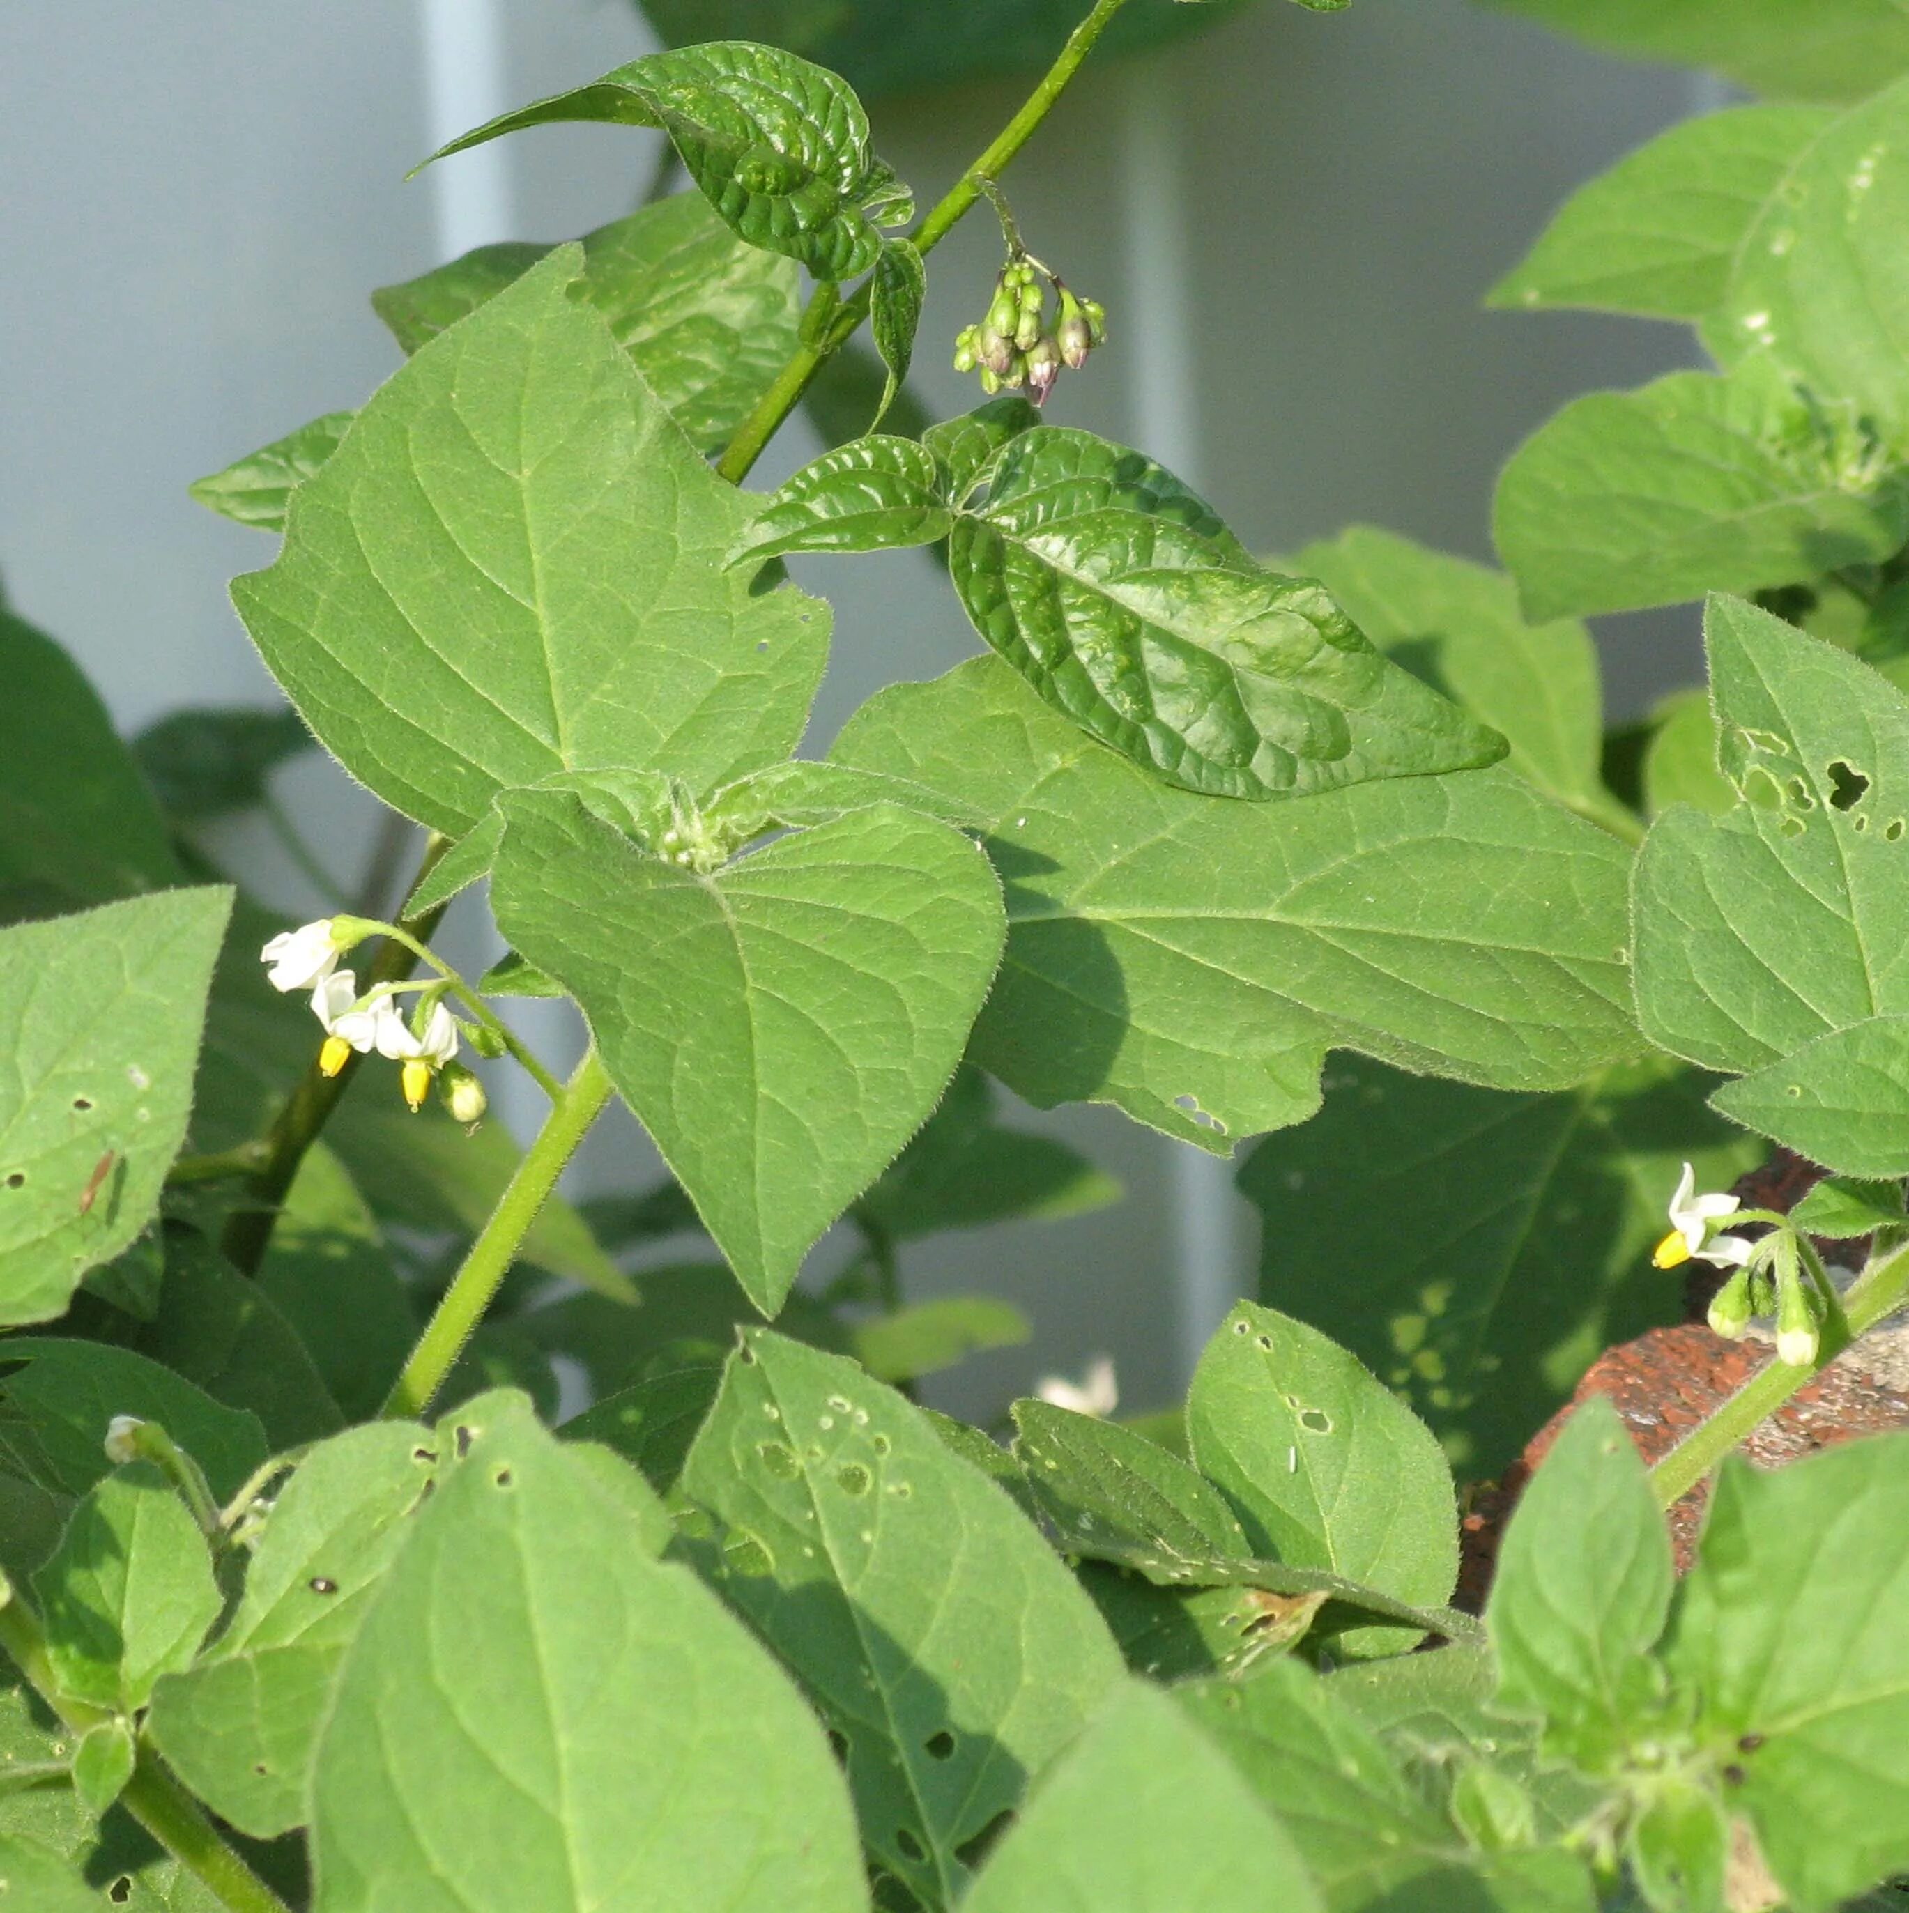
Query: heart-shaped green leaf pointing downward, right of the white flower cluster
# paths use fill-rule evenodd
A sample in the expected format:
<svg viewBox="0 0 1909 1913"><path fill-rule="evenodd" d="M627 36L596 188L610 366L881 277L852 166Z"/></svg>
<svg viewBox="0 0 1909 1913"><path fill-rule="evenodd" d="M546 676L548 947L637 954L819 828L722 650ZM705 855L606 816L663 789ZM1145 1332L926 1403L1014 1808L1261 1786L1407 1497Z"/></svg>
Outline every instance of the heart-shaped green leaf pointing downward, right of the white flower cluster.
<svg viewBox="0 0 1909 1913"><path fill-rule="evenodd" d="M624 1100L773 1310L960 1060L1000 956L987 861L878 805L702 876L572 796L503 809L503 934L576 995Z"/></svg>

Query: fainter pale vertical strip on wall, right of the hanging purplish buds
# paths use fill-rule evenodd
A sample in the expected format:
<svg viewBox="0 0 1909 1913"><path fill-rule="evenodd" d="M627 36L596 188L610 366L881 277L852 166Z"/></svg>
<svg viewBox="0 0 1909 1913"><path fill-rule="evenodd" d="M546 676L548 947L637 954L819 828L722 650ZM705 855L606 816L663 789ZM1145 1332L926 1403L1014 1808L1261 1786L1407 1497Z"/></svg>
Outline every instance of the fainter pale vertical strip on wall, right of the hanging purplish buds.
<svg viewBox="0 0 1909 1913"><path fill-rule="evenodd" d="M1113 314L1129 346L1132 434L1140 450L1188 484L1199 484L1199 363L1194 350L1182 143L1182 99L1171 61L1127 71L1123 168L1129 270ZM1138 350L1136 341L1146 341ZM1186 1142L1169 1142L1174 1328L1180 1372L1190 1375L1207 1337L1240 1293L1238 1198L1232 1165Z"/></svg>

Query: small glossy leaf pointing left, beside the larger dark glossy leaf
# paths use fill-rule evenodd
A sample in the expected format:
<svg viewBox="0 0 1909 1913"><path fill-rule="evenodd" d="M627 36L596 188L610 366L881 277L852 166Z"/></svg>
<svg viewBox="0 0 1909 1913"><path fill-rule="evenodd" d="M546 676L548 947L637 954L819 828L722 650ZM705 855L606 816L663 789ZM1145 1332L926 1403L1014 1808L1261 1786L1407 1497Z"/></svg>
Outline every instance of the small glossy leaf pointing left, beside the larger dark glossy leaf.
<svg viewBox="0 0 1909 1913"><path fill-rule="evenodd" d="M855 438L803 465L763 503L731 564L784 551L932 545L954 524L935 455L912 438Z"/></svg>

